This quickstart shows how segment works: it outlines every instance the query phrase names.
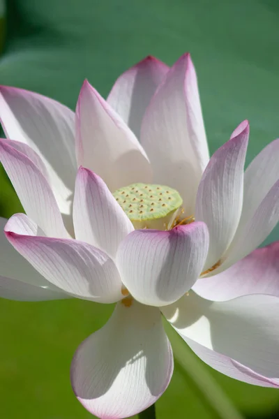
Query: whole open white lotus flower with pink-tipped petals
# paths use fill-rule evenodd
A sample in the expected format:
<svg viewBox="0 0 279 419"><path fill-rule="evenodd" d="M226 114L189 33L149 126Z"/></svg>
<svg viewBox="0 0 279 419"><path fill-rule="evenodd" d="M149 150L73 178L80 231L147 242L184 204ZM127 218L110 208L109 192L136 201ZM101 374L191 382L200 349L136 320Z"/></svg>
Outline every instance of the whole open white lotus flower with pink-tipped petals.
<svg viewBox="0 0 279 419"><path fill-rule="evenodd" d="M279 245L255 250L279 218L278 140L244 172L244 121L209 160L189 54L172 68L144 59L107 101L84 82L75 116L0 93L0 159L27 214L5 226L18 253L3 243L1 296L117 302L73 358L86 409L125 418L162 395L160 313L211 367L278 387Z"/></svg>

